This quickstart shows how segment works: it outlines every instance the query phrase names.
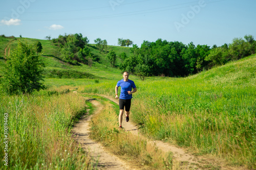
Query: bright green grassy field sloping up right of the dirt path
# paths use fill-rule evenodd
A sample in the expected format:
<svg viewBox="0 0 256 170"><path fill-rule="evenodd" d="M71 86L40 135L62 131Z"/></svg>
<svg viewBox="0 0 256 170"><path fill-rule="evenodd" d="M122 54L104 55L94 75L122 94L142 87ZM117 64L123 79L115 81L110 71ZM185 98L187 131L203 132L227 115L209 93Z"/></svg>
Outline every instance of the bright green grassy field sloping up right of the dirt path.
<svg viewBox="0 0 256 170"><path fill-rule="evenodd" d="M250 56L187 78L136 80L131 119L149 137L256 168L255 74ZM79 89L114 94L115 85Z"/></svg>

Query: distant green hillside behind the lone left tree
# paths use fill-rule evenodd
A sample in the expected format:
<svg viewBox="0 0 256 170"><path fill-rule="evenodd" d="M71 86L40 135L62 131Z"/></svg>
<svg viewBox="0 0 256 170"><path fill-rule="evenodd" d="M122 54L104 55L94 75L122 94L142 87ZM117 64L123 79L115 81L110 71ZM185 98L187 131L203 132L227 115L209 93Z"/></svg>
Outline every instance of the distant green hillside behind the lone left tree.
<svg viewBox="0 0 256 170"><path fill-rule="evenodd" d="M28 43L32 44L39 41L42 44L42 57L46 62L46 78L97 78L100 76L100 70L109 71L113 73L120 72L117 69L111 68L111 65L106 58L105 52L100 52L95 44L88 44L91 53L93 56L99 58L98 62L93 62L92 65L88 66L80 63L79 66L70 65L66 62L63 62L59 57L59 47L52 43L49 40L40 40L40 39L32 39L32 38L15 38L15 37L3 37L0 36L0 62L4 62L5 59L5 49L7 49L7 54L10 48L13 50L17 46L18 40L24 40ZM129 47L121 47L121 46L108 46L108 51L114 50L117 56L121 53L126 53L127 56L130 56ZM120 59L117 57L118 66L120 64ZM88 73L91 72L91 74ZM1 66L0 66L0 76L3 74ZM110 75L111 75L110 74Z"/></svg>

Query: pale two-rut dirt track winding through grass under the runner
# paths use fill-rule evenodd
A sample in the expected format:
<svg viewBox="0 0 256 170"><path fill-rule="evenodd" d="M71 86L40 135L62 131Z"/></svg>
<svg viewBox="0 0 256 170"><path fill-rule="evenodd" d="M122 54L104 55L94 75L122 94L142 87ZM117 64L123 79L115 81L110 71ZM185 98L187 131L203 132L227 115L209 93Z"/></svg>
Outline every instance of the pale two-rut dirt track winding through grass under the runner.
<svg viewBox="0 0 256 170"><path fill-rule="evenodd" d="M118 104L118 100L108 95L100 95ZM103 106L97 101L91 101L96 106L94 114L100 112ZM124 114L125 116L125 114ZM132 113L131 113L132 117ZM125 117L124 117L125 118ZM119 159L117 156L107 152L101 146L101 144L95 142L89 138L90 127L89 120L91 116L84 117L79 120L79 123L73 129L73 134L76 135L76 140L81 143L82 148L86 151L90 151L91 156L94 158L94 164L98 161L99 169L137 169L136 167L129 167L125 161ZM138 127L133 125L131 122L125 122L122 124L125 131L129 131L134 135L141 135ZM194 156L193 153L188 152L183 148L176 147L169 143L162 141L153 141L158 149L164 152L173 152L174 155L174 167L173 169L245 169L242 167L231 167L221 159L213 156Z"/></svg>

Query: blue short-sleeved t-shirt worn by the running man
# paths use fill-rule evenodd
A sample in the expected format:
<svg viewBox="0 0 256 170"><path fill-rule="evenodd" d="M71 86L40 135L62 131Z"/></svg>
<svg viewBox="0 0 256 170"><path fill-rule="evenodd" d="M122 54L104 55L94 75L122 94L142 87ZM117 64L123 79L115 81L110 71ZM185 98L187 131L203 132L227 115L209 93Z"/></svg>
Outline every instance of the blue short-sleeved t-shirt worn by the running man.
<svg viewBox="0 0 256 170"><path fill-rule="evenodd" d="M133 94L128 94L127 91L132 91L132 88L136 88L134 82L132 80L129 80L127 82L120 80L117 82L117 87L121 86L121 93L119 96L119 99L132 99Z"/></svg>

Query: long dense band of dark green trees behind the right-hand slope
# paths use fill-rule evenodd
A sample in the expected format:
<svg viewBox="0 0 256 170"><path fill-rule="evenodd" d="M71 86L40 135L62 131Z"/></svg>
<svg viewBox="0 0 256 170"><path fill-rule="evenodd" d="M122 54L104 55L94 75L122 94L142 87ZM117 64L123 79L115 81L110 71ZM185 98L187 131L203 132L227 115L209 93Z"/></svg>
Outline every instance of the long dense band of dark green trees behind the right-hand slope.
<svg viewBox="0 0 256 170"><path fill-rule="evenodd" d="M182 42L168 42L158 39L156 42L143 41L139 48L136 44L130 49L130 57L123 59L120 69L146 76L184 77L196 74L203 69L222 65L254 54L256 41L252 35L234 38L232 43L222 46L188 45ZM122 57L121 57L122 58Z"/></svg>

